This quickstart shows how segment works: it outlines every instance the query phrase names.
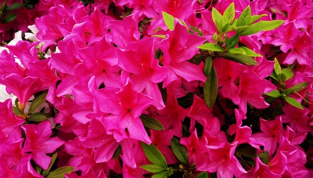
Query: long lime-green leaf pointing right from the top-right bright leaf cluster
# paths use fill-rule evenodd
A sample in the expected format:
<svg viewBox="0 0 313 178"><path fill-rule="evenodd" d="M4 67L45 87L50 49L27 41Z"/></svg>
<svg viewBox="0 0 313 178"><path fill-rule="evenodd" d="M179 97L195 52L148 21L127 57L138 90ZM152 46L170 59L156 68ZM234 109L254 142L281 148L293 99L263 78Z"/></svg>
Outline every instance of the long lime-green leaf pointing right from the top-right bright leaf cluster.
<svg viewBox="0 0 313 178"><path fill-rule="evenodd" d="M240 35L244 36L244 35L254 34L259 31L269 31L269 30L277 28L283 22L284 20L258 21L256 23L251 24L250 27L247 30L241 32Z"/></svg>

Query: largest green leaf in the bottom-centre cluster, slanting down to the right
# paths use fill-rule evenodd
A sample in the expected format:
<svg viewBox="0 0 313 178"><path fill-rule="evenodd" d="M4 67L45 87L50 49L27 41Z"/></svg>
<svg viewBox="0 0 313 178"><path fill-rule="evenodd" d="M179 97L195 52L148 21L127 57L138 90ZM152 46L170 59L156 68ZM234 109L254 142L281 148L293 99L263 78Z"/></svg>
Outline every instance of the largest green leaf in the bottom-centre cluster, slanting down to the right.
<svg viewBox="0 0 313 178"><path fill-rule="evenodd" d="M141 142L141 146L145 156L155 165L167 168L167 163L163 154L154 146L154 144L146 144Z"/></svg>

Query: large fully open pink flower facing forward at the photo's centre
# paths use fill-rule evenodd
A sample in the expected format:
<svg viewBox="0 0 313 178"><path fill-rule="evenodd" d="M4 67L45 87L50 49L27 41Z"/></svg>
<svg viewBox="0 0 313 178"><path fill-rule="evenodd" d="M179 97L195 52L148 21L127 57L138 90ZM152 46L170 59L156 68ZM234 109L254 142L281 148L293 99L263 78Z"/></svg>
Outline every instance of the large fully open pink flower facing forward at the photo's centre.
<svg viewBox="0 0 313 178"><path fill-rule="evenodd" d="M104 87L95 91L99 110L110 113L101 121L107 129L107 133L113 134L117 142L130 137L150 143L151 140L139 116L153 103L153 99L136 92L132 86L132 83L127 80L120 90Z"/></svg>

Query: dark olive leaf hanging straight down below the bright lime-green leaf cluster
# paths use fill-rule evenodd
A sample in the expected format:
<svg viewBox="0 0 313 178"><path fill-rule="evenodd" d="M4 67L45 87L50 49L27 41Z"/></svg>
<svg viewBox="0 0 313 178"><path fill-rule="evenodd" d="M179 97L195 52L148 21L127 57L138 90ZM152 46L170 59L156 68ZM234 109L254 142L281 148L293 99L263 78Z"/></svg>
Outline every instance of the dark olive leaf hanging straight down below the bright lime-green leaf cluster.
<svg viewBox="0 0 313 178"><path fill-rule="evenodd" d="M206 64L205 64L206 63ZM212 65L212 60L205 60L204 66L208 65L211 70L205 75L206 81L203 84L203 97L205 104L208 108L213 107L214 102L217 97L217 76L214 66Z"/></svg>

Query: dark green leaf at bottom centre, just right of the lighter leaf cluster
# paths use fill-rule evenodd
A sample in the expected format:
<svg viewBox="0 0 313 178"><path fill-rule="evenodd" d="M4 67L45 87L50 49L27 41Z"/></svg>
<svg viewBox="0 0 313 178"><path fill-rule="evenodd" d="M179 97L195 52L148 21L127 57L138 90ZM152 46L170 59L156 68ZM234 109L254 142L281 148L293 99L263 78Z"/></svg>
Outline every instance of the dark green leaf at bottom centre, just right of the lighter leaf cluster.
<svg viewBox="0 0 313 178"><path fill-rule="evenodd" d="M189 165L189 157L186 147L180 144L176 138L170 139L170 147L179 162L184 165Z"/></svg>

